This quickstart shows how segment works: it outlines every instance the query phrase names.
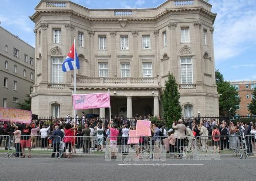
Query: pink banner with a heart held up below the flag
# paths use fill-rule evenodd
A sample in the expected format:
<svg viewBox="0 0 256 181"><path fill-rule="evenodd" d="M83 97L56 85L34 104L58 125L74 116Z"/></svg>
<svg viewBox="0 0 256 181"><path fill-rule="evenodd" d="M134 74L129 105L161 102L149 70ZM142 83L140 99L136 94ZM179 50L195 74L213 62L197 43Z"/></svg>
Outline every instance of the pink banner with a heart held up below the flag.
<svg viewBox="0 0 256 181"><path fill-rule="evenodd" d="M75 94L73 95L73 106L75 110L109 108L110 94Z"/></svg>

